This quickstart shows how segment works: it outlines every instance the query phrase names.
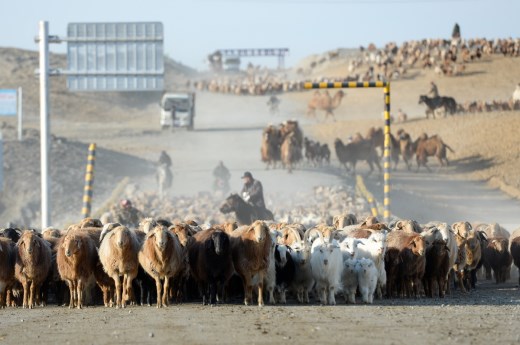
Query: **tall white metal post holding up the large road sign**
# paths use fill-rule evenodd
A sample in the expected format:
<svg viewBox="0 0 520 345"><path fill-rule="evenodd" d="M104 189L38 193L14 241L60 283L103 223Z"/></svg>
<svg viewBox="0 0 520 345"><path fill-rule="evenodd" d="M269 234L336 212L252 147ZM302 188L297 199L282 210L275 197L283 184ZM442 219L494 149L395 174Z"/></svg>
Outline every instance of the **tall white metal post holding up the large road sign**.
<svg viewBox="0 0 520 345"><path fill-rule="evenodd" d="M49 205L49 23L40 21L40 155L41 155L41 228L50 225Z"/></svg>

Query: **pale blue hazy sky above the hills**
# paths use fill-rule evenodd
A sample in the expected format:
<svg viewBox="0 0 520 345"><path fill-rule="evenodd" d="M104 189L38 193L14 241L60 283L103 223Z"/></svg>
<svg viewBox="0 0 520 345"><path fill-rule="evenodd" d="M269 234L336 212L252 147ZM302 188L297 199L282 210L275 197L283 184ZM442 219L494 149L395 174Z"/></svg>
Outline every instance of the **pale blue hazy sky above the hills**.
<svg viewBox="0 0 520 345"><path fill-rule="evenodd" d="M290 67L336 48L449 38L455 23L464 38L520 37L519 13L520 0L6 0L0 47L37 50L40 20L58 36L73 22L159 21L165 53L196 69L227 48L289 48ZM64 53L66 44L50 51ZM251 62L277 64L275 57Z"/></svg>

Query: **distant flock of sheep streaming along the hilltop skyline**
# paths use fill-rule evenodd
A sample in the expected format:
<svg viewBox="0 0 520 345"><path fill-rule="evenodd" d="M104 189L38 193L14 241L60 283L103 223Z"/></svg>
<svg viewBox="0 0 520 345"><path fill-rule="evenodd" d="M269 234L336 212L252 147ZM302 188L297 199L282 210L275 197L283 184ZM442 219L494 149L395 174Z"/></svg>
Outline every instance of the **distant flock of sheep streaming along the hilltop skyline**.
<svg viewBox="0 0 520 345"><path fill-rule="evenodd" d="M377 49L374 45L361 48L358 56L349 58L348 76L336 78L318 78L319 81L375 81L402 78L412 68L433 68L436 74L456 76L465 71L465 64L479 60L482 56L502 54L509 57L520 56L520 40L518 39L425 39L407 41L401 46L394 42L387 43ZM297 72L302 80L289 80L269 74L260 73L258 69L248 69L247 76L220 77L211 80L194 81L193 86L199 91L218 92L236 95L266 95L280 92L303 91L306 73L327 61L334 61L340 56L339 51L329 52L309 66ZM191 84L191 82L190 82Z"/></svg>

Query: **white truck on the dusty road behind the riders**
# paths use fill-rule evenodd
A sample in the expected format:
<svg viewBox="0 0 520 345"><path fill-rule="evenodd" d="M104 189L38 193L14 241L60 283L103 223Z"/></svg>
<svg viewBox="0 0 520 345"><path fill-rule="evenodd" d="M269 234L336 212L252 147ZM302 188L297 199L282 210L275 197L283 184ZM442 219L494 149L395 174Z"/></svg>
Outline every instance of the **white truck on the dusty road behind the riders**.
<svg viewBox="0 0 520 345"><path fill-rule="evenodd" d="M195 93L165 93L161 99L161 128L185 127L193 129L195 117ZM175 112L173 120L172 112ZM173 120L173 121L172 121Z"/></svg>

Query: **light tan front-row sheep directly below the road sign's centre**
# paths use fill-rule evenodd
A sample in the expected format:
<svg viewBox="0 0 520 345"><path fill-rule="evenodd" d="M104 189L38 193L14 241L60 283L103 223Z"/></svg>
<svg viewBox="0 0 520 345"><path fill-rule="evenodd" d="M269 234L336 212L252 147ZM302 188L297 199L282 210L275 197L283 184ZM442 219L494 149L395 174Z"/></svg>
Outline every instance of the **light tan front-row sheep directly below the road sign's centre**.
<svg viewBox="0 0 520 345"><path fill-rule="evenodd" d="M139 267L139 247L136 234L126 226L118 226L110 231L99 246L99 261L115 283L116 308L125 308L127 300L134 300L132 281Z"/></svg>

